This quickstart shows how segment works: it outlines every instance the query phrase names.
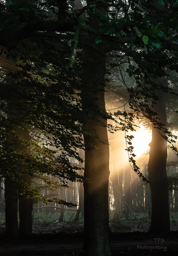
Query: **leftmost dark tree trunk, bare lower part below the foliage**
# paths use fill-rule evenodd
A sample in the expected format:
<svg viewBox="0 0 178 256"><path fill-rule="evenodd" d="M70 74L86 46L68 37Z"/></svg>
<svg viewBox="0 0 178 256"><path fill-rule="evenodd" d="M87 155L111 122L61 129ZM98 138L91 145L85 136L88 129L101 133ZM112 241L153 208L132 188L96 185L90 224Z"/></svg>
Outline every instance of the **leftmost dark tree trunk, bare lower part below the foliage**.
<svg viewBox="0 0 178 256"><path fill-rule="evenodd" d="M8 237L18 237L17 185L9 177L5 180L5 223Z"/></svg>

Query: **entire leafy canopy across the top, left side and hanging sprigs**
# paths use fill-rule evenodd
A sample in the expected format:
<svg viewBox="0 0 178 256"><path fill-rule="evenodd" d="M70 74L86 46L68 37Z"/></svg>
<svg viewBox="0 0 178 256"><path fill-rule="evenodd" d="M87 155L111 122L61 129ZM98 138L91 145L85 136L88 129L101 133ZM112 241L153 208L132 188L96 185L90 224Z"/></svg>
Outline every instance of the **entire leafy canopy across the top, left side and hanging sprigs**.
<svg viewBox="0 0 178 256"><path fill-rule="evenodd" d="M111 132L133 131L134 118L147 118L160 134L166 134L164 139L177 153L173 146L176 136L159 122L153 108L158 100L156 91L176 95L156 79L166 77L167 70L178 71L177 1L158 1L156 5L145 0L87 1L82 9L74 8L74 3L0 1L1 53L19 67L9 72L6 66L2 76L11 77L11 82L1 83L1 172L15 181L26 173L40 179L44 173L52 174L64 184L65 179L80 179L79 167L71 165L70 158L82 162L76 149L84 148L82 135L91 135L87 122L98 116L101 125L106 119L115 121L115 126L108 124ZM87 19L92 13L98 14L99 32L89 26ZM93 102L82 110L82 49L86 47L101 55L105 51L112 58L106 68L109 78L113 68L121 71L122 63L127 62L125 71L134 83L131 87L123 84L131 110L108 114ZM91 92L96 92L94 83ZM24 133L30 137L24 139ZM125 137L129 161L144 178L133 159L131 138ZM101 140L97 133L95 139Z"/></svg>

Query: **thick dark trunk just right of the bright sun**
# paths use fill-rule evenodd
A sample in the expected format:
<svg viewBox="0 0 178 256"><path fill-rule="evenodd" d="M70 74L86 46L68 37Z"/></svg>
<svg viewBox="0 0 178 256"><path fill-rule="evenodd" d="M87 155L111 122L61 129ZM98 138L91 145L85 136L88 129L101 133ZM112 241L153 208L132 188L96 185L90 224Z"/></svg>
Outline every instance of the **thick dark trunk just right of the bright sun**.
<svg viewBox="0 0 178 256"><path fill-rule="evenodd" d="M160 94L161 92L159 92L159 95ZM160 122L166 124L166 109L163 96L157 100L154 111L158 114ZM152 128L152 141L150 143L148 163L148 179L151 181L150 188L152 198L152 216L149 231L158 234L164 234L170 231L166 159L167 143L163 137Z"/></svg>

